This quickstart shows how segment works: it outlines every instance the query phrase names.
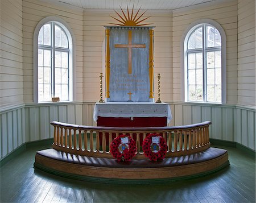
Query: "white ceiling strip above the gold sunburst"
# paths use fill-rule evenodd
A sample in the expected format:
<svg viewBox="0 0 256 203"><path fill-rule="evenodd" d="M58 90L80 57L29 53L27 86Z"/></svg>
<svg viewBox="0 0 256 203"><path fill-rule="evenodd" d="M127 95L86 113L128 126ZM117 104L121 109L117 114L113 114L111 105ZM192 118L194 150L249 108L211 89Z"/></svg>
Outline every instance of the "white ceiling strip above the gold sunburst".
<svg viewBox="0 0 256 203"><path fill-rule="evenodd" d="M44 0L43 0L44 1ZM47 0L48 2L65 3L82 9L131 9L175 10L205 2L220 2L220 0ZM225 0L222 0L225 1Z"/></svg>

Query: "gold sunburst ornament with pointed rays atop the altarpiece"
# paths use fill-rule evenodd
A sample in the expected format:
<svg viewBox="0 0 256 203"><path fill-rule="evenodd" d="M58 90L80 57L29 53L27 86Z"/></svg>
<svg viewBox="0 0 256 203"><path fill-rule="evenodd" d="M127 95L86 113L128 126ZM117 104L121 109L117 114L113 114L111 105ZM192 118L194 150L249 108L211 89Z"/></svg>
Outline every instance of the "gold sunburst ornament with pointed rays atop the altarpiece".
<svg viewBox="0 0 256 203"><path fill-rule="evenodd" d="M133 6L133 8L134 8L134 6ZM127 5L127 14L125 14L125 12L123 12L121 6L120 6L120 9L121 9L121 11L123 13L123 17L120 14L118 14L117 11L115 11L115 10L114 10L115 13L119 16L120 19L117 19L117 18L115 18L113 16L110 16L110 17L114 18L115 20L117 20L120 23L109 23L109 24L114 24L116 26L147 26L148 24L152 24L152 23L139 24L139 23L142 23L144 20L150 18L150 16L149 16L147 18L139 20L144 15L144 13L146 13L146 11L144 11L144 13L142 13L140 16L137 17L137 15L139 14L139 11L141 10L141 7L139 8L139 10L135 14L135 16L133 16L134 9L131 11L131 15L130 15L129 9L128 9L128 5Z"/></svg>

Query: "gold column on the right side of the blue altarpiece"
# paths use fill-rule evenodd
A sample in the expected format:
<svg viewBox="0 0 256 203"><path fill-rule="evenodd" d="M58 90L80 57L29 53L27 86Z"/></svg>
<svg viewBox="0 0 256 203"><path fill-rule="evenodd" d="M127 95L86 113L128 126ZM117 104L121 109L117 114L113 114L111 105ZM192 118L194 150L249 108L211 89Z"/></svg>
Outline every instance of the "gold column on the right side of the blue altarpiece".
<svg viewBox="0 0 256 203"><path fill-rule="evenodd" d="M150 35L150 46L149 46L149 78L150 78L150 97L154 98L153 82L154 82L154 56L153 56L153 36L154 30L149 30Z"/></svg>

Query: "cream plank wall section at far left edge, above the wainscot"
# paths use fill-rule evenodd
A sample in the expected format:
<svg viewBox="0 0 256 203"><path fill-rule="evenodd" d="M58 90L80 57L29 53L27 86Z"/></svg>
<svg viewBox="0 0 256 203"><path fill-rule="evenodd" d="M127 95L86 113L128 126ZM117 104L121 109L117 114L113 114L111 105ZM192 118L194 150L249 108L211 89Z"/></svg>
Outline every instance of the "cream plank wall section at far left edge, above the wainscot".
<svg viewBox="0 0 256 203"><path fill-rule="evenodd" d="M22 0L0 1L0 108L23 103Z"/></svg>

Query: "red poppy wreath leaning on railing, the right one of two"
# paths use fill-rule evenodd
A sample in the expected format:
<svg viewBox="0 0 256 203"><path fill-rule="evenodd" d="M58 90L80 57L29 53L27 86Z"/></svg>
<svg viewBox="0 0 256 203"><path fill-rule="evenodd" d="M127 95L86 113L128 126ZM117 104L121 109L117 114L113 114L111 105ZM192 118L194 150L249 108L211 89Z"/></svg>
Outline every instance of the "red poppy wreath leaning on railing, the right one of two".
<svg viewBox="0 0 256 203"><path fill-rule="evenodd" d="M142 150L151 161L163 160L167 152L166 140L159 134L147 135L143 140Z"/></svg>

